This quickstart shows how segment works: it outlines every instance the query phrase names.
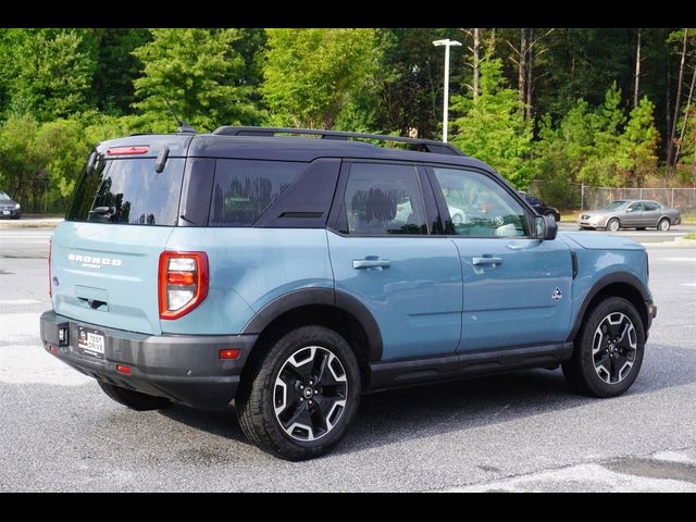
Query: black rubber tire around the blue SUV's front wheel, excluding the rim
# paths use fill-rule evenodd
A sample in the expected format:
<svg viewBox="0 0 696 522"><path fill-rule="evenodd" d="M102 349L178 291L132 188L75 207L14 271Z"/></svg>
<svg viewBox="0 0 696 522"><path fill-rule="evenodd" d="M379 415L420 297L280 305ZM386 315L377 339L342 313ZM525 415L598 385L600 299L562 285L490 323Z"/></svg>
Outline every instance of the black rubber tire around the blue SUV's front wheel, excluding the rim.
<svg viewBox="0 0 696 522"><path fill-rule="evenodd" d="M636 358L629 375L620 383L609 384L602 381L595 370L593 359L593 339L595 331L610 313L621 312L633 323L636 332ZM643 364L645 352L645 330L643 322L635 307L627 300L620 297L610 297L601 301L587 316L582 326L582 332L573 350L573 357L569 361L564 371L574 374L575 380L580 380L582 390L594 397L617 397L624 394L635 382ZM571 380L572 381L572 380Z"/></svg>

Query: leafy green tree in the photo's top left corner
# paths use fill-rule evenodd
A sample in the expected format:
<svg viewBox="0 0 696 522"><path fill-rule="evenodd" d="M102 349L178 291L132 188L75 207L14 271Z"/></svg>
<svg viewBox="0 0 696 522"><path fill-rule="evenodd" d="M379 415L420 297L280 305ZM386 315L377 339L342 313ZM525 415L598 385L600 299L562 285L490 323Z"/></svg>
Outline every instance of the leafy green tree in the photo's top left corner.
<svg viewBox="0 0 696 522"><path fill-rule="evenodd" d="M0 49L5 113L50 121L89 107L96 61L87 29L7 30Z"/></svg>

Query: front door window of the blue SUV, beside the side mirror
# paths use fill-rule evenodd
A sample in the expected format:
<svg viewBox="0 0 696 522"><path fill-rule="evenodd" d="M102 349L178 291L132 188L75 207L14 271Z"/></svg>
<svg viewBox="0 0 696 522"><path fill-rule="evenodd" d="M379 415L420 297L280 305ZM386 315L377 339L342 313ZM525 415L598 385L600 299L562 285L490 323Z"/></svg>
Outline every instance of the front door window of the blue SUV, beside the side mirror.
<svg viewBox="0 0 696 522"><path fill-rule="evenodd" d="M459 169L433 169L458 236L529 236L522 206L489 177Z"/></svg>

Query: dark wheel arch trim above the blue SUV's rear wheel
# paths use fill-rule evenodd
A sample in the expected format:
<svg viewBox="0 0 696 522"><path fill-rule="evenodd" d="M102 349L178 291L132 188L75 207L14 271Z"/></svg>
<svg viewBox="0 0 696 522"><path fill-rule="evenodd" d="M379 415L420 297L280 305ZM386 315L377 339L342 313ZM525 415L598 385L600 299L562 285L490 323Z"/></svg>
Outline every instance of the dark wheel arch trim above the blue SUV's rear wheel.
<svg viewBox="0 0 696 522"><path fill-rule="evenodd" d="M382 359L382 334L376 320L357 298L333 288L300 288L284 294L259 310L245 325L240 335L260 334L284 313L308 306L327 306L352 315L368 337L369 361Z"/></svg>

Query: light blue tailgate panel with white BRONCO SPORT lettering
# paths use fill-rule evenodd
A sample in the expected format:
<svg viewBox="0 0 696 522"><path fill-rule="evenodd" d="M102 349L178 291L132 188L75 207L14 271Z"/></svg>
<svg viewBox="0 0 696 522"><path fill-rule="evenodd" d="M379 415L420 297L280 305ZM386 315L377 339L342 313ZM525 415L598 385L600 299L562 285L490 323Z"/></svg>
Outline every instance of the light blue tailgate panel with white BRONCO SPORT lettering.
<svg viewBox="0 0 696 522"><path fill-rule="evenodd" d="M160 334L158 262L171 233L165 226L61 223L51 251L55 312Z"/></svg>

